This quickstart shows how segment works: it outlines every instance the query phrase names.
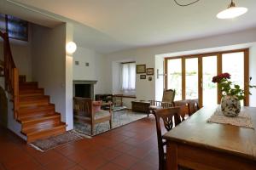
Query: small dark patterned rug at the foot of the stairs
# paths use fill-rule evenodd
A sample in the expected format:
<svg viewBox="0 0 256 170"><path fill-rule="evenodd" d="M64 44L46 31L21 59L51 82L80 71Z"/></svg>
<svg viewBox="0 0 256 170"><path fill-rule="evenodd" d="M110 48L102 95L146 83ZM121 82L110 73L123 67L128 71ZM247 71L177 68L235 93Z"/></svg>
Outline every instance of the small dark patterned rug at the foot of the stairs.
<svg viewBox="0 0 256 170"><path fill-rule="evenodd" d="M48 139L38 139L33 142L31 145L37 150L46 151L50 149L54 149L62 144L67 144L69 142L83 139L78 133L74 133L73 131L68 131L66 133L62 133L58 136L49 137Z"/></svg>

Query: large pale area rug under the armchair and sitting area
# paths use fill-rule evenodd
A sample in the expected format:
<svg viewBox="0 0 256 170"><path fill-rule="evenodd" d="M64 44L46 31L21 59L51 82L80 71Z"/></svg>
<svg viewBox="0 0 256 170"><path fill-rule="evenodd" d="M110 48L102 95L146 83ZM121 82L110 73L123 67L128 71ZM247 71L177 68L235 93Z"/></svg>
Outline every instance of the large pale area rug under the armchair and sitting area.
<svg viewBox="0 0 256 170"><path fill-rule="evenodd" d="M147 114L145 113L137 113L132 112L128 110L123 111L115 111L114 114L112 114L112 129L116 127L123 126L125 124L135 122L139 119L142 119L143 117L146 117ZM107 132L109 129L109 122L102 122L96 124L94 127L94 135L90 134L90 125L86 123L81 122L74 122L74 129L78 131L79 133L84 133L85 135L89 136L95 136L100 133Z"/></svg>

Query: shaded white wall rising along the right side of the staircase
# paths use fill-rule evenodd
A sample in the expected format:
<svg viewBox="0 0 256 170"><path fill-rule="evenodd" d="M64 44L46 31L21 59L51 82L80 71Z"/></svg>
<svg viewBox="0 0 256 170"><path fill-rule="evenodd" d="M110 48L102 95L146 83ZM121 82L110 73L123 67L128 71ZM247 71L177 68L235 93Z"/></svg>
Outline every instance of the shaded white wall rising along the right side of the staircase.
<svg viewBox="0 0 256 170"><path fill-rule="evenodd" d="M32 80L50 95L50 102L66 121L66 25L53 29L32 26ZM70 125L69 125L70 126Z"/></svg>

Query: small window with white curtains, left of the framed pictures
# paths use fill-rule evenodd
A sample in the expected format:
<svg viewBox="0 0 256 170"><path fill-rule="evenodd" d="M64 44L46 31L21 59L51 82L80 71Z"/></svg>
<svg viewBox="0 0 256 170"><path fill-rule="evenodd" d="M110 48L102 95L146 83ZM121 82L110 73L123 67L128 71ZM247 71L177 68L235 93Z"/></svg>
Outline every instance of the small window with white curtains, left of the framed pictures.
<svg viewBox="0 0 256 170"><path fill-rule="evenodd" d="M121 90L125 93L135 91L136 65L135 62L121 63Z"/></svg>

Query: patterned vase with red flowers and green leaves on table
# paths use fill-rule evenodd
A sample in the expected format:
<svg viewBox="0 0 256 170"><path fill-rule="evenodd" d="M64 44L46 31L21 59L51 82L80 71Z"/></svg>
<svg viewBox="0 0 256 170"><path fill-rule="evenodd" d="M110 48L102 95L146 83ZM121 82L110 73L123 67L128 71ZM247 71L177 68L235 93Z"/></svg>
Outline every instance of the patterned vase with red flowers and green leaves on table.
<svg viewBox="0 0 256 170"><path fill-rule="evenodd" d="M241 111L241 99L245 99L245 91L234 82L230 81L230 74L223 73L216 77L212 77L212 82L218 83L218 88L222 92L221 111L224 116L238 116ZM251 81L250 77L250 81ZM249 85L249 88L256 86ZM251 94L249 92L249 94Z"/></svg>

